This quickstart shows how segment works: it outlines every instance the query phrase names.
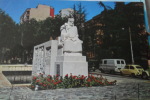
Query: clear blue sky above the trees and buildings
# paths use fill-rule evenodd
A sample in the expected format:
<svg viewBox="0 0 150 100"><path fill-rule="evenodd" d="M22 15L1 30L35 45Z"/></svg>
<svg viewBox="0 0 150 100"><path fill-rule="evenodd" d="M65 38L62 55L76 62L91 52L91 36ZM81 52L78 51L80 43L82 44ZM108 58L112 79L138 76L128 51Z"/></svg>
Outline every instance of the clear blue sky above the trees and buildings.
<svg viewBox="0 0 150 100"><path fill-rule="evenodd" d="M73 5L78 5L80 2L86 10L86 19L90 20L94 16L98 15L103 8L97 3L99 0L0 0L0 8L5 11L16 23L20 22L20 16L27 8L36 8L38 4L48 5L54 8L55 15L59 14L61 9L73 8ZM114 8L114 2L108 2L104 4ZM109 0L112 1L112 0ZM126 0L126 1L140 1L140 0Z"/></svg>

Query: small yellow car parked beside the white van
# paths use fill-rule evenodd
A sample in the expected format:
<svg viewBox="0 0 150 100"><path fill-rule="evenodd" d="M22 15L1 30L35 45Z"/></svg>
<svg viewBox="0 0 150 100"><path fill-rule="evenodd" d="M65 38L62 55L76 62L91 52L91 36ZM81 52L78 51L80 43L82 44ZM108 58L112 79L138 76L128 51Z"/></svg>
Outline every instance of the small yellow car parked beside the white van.
<svg viewBox="0 0 150 100"><path fill-rule="evenodd" d="M120 70L121 75L130 75L132 77L141 76L144 69L140 65L126 65L124 69Z"/></svg>

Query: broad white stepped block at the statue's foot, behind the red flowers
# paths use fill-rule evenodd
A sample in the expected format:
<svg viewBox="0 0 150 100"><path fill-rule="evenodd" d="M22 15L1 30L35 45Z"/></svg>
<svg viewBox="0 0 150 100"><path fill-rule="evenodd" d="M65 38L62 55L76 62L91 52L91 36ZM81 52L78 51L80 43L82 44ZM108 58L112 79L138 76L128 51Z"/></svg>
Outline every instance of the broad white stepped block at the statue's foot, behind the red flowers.
<svg viewBox="0 0 150 100"><path fill-rule="evenodd" d="M57 56L55 65L56 74L62 77L66 74L88 76L88 63L85 56Z"/></svg>

